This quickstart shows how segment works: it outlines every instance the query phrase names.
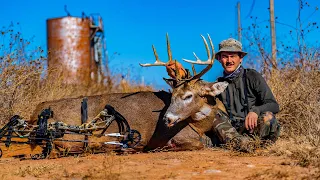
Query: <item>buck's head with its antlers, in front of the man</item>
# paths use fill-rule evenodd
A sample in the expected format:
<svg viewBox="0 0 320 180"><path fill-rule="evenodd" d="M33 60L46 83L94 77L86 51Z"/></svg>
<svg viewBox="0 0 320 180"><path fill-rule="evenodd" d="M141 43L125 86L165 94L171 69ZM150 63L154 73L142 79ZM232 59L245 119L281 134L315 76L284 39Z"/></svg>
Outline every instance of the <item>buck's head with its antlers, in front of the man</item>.
<svg viewBox="0 0 320 180"><path fill-rule="evenodd" d="M175 76L172 76L171 79L164 80L169 84L172 88L172 97L171 104L168 107L164 120L166 121L166 125L168 127L172 127L180 121L186 120L191 117L193 121L200 121L208 116L212 115L212 111L214 109L214 104L211 105L208 103L208 97L214 97L220 93L222 93L226 87L228 86L227 82L214 82L208 83L202 81L200 78L206 72L208 72L214 62L214 46L210 36L208 35L211 53L208 47L208 43L204 36L202 36L204 41L208 60L201 61L195 53L194 56L196 61L191 61L187 59L183 59L184 61L192 64L193 76L186 70L184 70L184 76L181 76L181 72L179 69L175 69ZM169 61L167 63L161 62L158 59L158 55L156 54L155 48L153 46L154 54L156 57L156 62L154 64L140 64L141 66L168 66L169 63L172 63L172 54L170 50L169 37L167 35L167 49L168 49L168 57ZM196 73L194 64L199 65L207 65L200 73ZM176 66L177 67L177 66ZM168 68L167 68L168 69ZM168 72L169 73L169 72Z"/></svg>

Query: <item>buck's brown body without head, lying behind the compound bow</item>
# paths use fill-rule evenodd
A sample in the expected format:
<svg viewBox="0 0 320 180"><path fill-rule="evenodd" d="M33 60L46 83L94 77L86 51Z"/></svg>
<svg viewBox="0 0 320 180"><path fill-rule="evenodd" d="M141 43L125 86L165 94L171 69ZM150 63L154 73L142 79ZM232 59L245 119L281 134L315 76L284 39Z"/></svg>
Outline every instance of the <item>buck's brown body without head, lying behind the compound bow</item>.
<svg viewBox="0 0 320 180"><path fill-rule="evenodd" d="M141 133L142 140L137 150L152 150L164 146L174 147L175 150L192 150L203 147L200 135L189 126L187 121L172 128L166 126L163 116L171 100L171 94L168 92L114 93L87 98L88 120L93 119L106 104L109 104L127 119L132 129ZM43 102L36 107L30 123L37 120L38 114L43 109L50 107L54 112L53 121L80 125L82 100L83 97ZM173 145L172 142L175 144ZM77 151L82 148L83 143L64 143L64 146L72 146L72 151Z"/></svg>

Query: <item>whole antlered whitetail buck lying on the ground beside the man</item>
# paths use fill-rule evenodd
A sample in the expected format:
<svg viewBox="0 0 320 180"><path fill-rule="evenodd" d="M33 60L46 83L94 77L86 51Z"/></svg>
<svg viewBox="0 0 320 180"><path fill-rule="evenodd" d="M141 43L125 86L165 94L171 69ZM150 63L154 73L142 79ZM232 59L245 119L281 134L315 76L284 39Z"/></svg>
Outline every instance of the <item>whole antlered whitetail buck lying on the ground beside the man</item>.
<svg viewBox="0 0 320 180"><path fill-rule="evenodd" d="M187 74L185 70L181 70L179 73L175 72L175 78L166 79L173 88L172 94L159 91L88 96L89 119L93 119L106 104L109 104L128 120L132 129L141 133L142 140L136 150L151 150L164 146L173 147L174 150L203 148L203 143L200 140L204 133L212 128L211 117L218 108L224 108L222 103L216 101L212 96L222 92L227 84L205 83L200 80L200 77L211 68L214 57L210 37L212 56L210 56L205 38L203 36L202 38L209 59L206 62L201 62L197 58L196 63L207 64L208 66L193 77L190 77L190 74ZM167 48L168 63L172 63L168 36ZM154 46L153 50L156 63L141 64L142 66L168 64L159 60ZM50 107L54 112L54 121L63 121L74 125L80 124L80 104L82 100L83 97L78 97L43 102L36 107L31 122L37 120L38 114L43 109ZM210 104L209 101L213 103ZM112 131L112 129L110 130ZM78 143L78 145L72 147L71 151L77 151L79 148L81 150L82 147L83 144Z"/></svg>

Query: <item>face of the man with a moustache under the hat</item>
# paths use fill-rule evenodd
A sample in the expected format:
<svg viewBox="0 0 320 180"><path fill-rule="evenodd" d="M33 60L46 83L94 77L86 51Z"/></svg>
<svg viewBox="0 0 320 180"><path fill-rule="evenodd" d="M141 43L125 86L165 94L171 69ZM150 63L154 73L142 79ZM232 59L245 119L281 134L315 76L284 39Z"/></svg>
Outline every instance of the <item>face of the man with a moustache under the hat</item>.
<svg viewBox="0 0 320 180"><path fill-rule="evenodd" d="M239 53L237 52L221 52L219 62L227 74L233 73L242 62Z"/></svg>

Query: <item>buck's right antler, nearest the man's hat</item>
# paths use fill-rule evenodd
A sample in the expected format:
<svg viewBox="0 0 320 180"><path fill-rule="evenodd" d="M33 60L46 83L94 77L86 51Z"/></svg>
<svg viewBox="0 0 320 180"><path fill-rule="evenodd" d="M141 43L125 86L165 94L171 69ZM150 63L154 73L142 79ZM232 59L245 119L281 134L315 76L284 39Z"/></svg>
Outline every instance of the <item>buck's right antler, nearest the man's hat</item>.
<svg viewBox="0 0 320 180"><path fill-rule="evenodd" d="M213 46L213 43L212 43L212 40L210 38L210 35L208 34L208 39L209 39L209 42L210 42L210 46L211 46L211 54L210 54L210 49L209 49L209 46L208 46L208 43L205 39L205 37L203 35L201 35L202 39L203 39L203 42L204 42L204 45L206 46L206 51L207 51L207 56L208 56L208 60L206 61L201 61L198 56L196 55L196 53L193 53L193 55L195 56L196 58L196 61L192 61L192 60L188 60L188 59L183 59L185 62L188 62L188 63L191 63L192 65L193 64L200 64L200 65L208 65L206 68L204 68L199 74L195 74L195 71L194 74L193 74L193 77L191 77L190 79L188 80L193 80L193 79L199 79L201 76L203 76L206 72L208 72L212 65L213 65L213 62L214 62L214 46ZM193 68L194 69L194 68Z"/></svg>

